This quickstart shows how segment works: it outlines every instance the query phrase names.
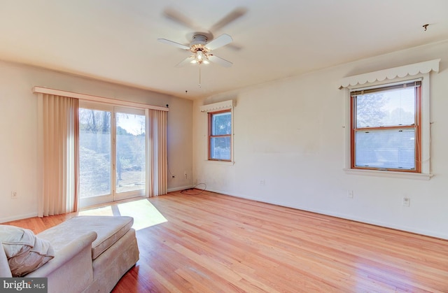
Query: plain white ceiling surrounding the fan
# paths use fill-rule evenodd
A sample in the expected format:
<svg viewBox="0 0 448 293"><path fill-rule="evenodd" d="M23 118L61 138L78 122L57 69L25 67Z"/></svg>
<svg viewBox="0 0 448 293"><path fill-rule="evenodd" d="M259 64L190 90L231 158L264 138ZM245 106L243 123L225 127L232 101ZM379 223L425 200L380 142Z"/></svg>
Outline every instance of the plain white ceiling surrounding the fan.
<svg viewBox="0 0 448 293"><path fill-rule="evenodd" d="M447 0L0 0L0 59L195 99L446 40L447 13ZM197 65L175 67L189 52L157 41L195 31L234 40L213 51L233 66L202 65L201 87Z"/></svg>

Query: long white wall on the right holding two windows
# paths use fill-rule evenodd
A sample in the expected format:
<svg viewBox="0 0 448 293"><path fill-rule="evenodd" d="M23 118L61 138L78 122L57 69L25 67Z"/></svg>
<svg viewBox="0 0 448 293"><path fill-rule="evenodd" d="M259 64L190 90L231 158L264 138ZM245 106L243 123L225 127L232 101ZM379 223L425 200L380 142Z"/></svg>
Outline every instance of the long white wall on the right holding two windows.
<svg viewBox="0 0 448 293"><path fill-rule="evenodd" d="M338 90L339 80L438 58L440 72L430 75L433 178L346 174L342 169L347 98ZM195 182L233 196L448 238L447 69L448 41L195 101ZM207 114L199 107L228 99L237 102L235 164L207 162ZM353 190L353 199L347 190ZM411 199L409 207L402 206L403 196Z"/></svg>

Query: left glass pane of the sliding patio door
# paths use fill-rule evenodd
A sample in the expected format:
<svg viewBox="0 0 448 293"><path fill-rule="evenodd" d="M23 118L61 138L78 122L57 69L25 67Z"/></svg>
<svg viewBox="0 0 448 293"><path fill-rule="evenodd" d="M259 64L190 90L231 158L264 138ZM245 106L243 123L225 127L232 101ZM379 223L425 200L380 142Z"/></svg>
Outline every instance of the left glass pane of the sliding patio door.
<svg viewBox="0 0 448 293"><path fill-rule="evenodd" d="M79 109L80 197L111 194L111 112Z"/></svg>

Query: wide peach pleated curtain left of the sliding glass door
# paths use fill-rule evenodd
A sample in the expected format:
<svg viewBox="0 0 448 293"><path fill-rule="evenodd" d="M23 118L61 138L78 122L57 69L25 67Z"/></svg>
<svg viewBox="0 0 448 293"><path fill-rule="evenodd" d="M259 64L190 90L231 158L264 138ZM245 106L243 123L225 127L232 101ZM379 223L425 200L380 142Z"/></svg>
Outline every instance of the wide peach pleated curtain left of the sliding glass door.
<svg viewBox="0 0 448 293"><path fill-rule="evenodd" d="M38 216L78 209L78 99L38 93Z"/></svg>

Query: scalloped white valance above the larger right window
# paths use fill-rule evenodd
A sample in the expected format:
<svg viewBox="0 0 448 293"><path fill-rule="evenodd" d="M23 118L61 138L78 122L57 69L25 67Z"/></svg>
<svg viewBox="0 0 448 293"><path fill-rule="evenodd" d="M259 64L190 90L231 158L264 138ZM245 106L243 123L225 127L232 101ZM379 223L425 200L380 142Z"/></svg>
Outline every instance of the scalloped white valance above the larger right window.
<svg viewBox="0 0 448 293"><path fill-rule="evenodd" d="M374 83L393 78L404 78L405 76L415 76L419 73L428 73L430 71L439 72L440 59L434 59L426 62L419 62L405 66L373 71L369 73L358 74L357 76L348 76L342 78L339 89L353 85L363 85L365 83Z"/></svg>

